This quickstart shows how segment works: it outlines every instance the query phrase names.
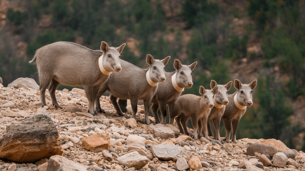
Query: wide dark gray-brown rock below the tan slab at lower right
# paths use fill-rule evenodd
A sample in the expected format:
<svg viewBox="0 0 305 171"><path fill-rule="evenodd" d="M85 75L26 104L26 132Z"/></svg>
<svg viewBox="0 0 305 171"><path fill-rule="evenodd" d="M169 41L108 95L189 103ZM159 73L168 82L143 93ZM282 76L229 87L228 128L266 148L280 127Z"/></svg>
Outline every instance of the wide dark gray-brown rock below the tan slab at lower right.
<svg viewBox="0 0 305 171"><path fill-rule="evenodd" d="M278 149L276 149L272 145L266 145L266 144L252 144L249 145L247 148L247 154L253 155L254 152L261 153L261 154L268 154L271 157L278 152Z"/></svg>

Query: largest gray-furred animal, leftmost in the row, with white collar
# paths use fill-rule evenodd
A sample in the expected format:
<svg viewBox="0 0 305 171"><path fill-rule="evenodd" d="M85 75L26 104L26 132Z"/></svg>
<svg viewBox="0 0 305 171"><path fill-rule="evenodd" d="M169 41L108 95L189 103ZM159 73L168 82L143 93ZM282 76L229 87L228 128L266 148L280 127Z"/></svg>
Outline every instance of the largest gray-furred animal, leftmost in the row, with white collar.
<svg viewBox="0 0 305 171"><path fill-rule="evenodd" d="M58 41L36 50L29 63L36 63L40 82L41 105L46 106L45 90L48 88L52 105L63 109L57 102L55 91L60 83L71 86L83 86L88 98L88 112L93 116L94 102L99 87L108 79L99 69L99 57L103 57L103 66L109 72L119 72L120 47L109 47L104 41L101 50L91 50L73 42Z"/></svg>

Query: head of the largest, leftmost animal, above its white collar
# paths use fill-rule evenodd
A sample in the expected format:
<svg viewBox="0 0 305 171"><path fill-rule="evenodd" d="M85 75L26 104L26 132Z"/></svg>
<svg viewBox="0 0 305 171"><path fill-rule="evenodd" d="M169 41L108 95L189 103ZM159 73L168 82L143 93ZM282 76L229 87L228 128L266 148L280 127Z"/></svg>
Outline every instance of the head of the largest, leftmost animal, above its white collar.
<svg viewBox="0 0 305 171"><path fill-rule="evenodd" d="M102 41L101 50L104 52L102 59L102 65L108 72L119 72L121 68L120 54L126 44L124 43L120 47L109 47L108 44Z"/></svg>

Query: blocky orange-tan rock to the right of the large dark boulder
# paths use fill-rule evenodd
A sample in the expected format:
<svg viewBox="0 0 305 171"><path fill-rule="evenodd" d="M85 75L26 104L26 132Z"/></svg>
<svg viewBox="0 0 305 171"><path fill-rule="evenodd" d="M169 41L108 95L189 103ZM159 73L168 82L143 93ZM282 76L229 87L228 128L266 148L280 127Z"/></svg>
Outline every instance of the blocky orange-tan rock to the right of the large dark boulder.
<svg viewBox="0 0 305 171"><path fill-rule="evenodd" d="M110 150L110 137L104 134L95 134L89 137L85 137L81 140L82 146L94 152L102 150Z"/></svg>

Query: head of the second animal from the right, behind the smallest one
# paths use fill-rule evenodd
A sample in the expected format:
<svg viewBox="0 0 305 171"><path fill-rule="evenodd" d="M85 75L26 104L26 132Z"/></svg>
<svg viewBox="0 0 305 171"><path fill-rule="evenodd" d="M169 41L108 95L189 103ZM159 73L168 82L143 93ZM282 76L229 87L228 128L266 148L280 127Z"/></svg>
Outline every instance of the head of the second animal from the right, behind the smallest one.
<svg viewBox="0 0 305 171"><path fill-rule="evenodd" d="M214 101L219 105L227 105L228 100L228 90L231 88L232 81L228 82L226 85L218 85L218 93L214 96ZM211 80L211 88L217 86L216 81ZM214 104L215 105L215 104Z"/></svg>

